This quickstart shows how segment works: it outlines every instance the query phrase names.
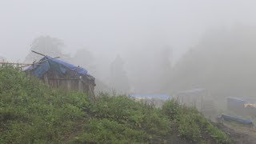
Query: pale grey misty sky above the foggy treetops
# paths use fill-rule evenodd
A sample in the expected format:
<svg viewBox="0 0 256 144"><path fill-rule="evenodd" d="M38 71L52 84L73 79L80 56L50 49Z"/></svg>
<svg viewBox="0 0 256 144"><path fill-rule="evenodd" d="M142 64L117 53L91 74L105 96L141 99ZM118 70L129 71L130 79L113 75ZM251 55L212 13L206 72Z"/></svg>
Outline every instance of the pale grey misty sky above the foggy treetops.
<svg viewBox="0 0 256 144"><path fill-rule="evenodd" d="M254 0L1 0L0 56L22 61L30 43L50 35L66 52L112 58L136 49L171 46L178 58L206 30L256 24Z"/></svg>

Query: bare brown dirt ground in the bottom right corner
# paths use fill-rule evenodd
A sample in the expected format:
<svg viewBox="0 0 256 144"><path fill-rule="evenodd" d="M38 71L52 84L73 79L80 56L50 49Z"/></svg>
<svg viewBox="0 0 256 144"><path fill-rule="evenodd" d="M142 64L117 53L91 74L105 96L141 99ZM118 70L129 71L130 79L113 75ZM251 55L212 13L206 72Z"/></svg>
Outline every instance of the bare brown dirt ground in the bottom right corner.
<svg viewBox="0 0 256 144"><path fill-rule="evenodd" d="M229 134L235 144L256 144L256 128L230 126L222 123L215 123L215 126Z"/></svg>

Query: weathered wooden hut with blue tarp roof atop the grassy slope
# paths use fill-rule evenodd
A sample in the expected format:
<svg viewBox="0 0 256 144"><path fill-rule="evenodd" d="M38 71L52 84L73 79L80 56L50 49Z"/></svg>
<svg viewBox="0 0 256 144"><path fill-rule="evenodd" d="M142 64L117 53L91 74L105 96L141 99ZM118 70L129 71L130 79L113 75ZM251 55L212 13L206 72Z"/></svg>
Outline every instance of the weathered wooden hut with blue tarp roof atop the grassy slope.
<svg viewBox="0 0 256 144"><path fill-rule="evenodd" d="M25 71L28 75L40 78L54 88L78 90L86 92L90 98L95 98L95 78L82 67L45 56Z"/></svg>

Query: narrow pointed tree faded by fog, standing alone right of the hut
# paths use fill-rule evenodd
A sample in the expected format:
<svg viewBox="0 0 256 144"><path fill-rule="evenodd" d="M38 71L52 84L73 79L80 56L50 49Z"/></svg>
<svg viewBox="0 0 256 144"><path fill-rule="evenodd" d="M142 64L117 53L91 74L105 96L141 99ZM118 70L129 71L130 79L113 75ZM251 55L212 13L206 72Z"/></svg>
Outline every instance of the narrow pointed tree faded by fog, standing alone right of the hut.
<svg viewBox="0 0 256 144"><path fill-rule="evenodd" d="M124 70L124 62L119 55L110 65L110 82L117 92L126 93L130 90L128 77Z"/></svg>

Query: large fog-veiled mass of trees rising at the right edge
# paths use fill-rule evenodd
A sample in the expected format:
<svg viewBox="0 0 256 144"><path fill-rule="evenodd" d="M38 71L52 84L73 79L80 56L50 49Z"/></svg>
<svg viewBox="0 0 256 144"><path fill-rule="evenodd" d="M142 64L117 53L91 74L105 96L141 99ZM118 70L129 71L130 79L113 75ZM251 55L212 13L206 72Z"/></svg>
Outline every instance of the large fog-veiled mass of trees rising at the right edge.
<svg viewBox="0 0 256 144"><path fill-rule="evenodd" d="M208 32L174 66L172 88L203 87L217 97L253 98L256 93L256 27Z"/></svg>

